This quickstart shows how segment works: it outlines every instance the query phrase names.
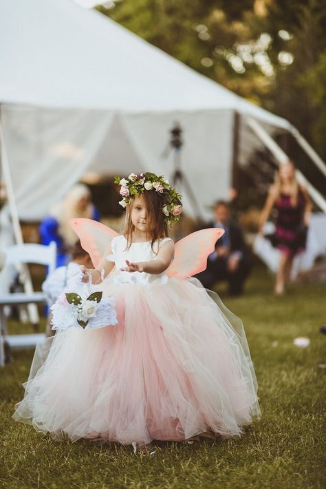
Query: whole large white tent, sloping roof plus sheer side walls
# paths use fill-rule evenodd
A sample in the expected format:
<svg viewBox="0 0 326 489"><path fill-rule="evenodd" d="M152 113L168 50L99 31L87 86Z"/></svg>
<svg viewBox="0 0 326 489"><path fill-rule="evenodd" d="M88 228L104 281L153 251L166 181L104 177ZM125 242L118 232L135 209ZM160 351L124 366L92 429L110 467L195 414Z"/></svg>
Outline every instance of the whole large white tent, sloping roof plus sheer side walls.
<svg viewBox="0 0 326 489"><path fill-rule="evenodd" d="M164 150L174 121L184 130L184 173L207 214L231 186L235 111L269 132L290 128L72 0L1 0L0 63L1 123L24 219L42 218L85 171L171 178L174 156ZM246 130L242 160L258 143Z"/></svg>

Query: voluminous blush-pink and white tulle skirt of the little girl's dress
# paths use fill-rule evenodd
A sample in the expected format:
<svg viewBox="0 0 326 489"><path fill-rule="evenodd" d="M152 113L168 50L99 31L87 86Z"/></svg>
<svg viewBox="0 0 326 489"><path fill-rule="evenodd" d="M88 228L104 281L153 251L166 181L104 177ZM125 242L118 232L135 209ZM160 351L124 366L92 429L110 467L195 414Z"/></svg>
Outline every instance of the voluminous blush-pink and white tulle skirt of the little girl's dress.
<svg viewBox="0 0 326 489"><path fill-rule="evenodd" d="M259 418L242 323L196 279L110 284L118 324L38 346L14 419L53 437L147 444L232 437Z"/></svg>

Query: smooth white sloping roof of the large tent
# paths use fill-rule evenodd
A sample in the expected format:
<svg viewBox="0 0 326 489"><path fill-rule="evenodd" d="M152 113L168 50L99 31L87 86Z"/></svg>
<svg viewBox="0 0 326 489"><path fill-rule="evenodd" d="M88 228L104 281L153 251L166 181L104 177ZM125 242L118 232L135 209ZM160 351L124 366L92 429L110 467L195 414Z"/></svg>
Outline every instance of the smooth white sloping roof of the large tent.
<svg viewBox="0 0 326 489"><path fill-rule="evenodd" d="M72 0L1 1L0 36L3 102L133 113L231 109L289 127Z"/></svg>

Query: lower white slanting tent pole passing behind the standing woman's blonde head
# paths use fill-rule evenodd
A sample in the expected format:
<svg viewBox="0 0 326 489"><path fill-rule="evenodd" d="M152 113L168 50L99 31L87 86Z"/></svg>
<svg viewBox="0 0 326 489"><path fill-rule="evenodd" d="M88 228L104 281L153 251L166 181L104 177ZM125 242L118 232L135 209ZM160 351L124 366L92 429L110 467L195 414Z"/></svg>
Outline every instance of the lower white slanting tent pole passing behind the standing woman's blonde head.
<svg viewBox="0 0 326 489"><path fill-rule="evenodd" d="M251 117L246 117L246 122L248 123L250 129L252 129L252 132L254 132L254 134L256 134L260 141L270 150L277 163L283 165L283 163L287 163L287 161L290 160L287 154L283 152L283 149L279 147L279 145L274 141L270 134L268 134L268 132L266 132L265 129L263 129L263 127L257 121L255 121ZM298 179L298 183L301 183L301 185L305 185L309 196L312 198L312 200L314 200L318 207L320 207L320 209L326 213L325 198L323 198L318 190L315 189L315 187L313 187L311 183L308 182L307 178L305 178L301 171L296 170L296 178Z"/></svg>

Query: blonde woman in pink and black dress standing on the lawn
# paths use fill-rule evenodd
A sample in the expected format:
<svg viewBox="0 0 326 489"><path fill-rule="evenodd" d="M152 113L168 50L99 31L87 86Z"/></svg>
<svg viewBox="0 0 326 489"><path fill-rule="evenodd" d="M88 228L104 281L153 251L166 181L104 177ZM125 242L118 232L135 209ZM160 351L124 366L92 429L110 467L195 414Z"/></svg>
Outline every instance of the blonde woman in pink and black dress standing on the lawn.
<svg viewBox="0 0 326 489"><path fill-rule="evenodd" d="M275 294L283 295L290 278L294 256L305 249L307 226L312 211L307 190L296 180L292 161L281 165L276 174L261 212L259 231L263 229L272 209L277 211L273 245L281 251Z"/></svg>

